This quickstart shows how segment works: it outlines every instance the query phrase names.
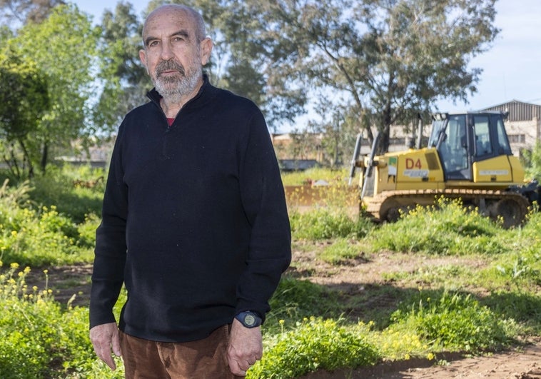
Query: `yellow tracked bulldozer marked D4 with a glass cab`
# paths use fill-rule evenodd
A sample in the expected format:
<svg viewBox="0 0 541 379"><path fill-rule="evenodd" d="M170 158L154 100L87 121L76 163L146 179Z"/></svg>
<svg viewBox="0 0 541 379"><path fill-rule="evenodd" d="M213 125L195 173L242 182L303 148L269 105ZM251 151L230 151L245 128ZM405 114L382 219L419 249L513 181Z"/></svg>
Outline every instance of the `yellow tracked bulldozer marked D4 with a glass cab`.
<svg viewBox="0 0 541 379"><path fill-rule="evenodd" d="M520 225L540 197L537 181L525 182L525 171L512 155L504 121L507 112L435 113L428 146L360 157L358 135L351 161L360 173L360 203L375 221L395 221L415 206L433 205L440 197L460 198L505 228Z"/></svg>

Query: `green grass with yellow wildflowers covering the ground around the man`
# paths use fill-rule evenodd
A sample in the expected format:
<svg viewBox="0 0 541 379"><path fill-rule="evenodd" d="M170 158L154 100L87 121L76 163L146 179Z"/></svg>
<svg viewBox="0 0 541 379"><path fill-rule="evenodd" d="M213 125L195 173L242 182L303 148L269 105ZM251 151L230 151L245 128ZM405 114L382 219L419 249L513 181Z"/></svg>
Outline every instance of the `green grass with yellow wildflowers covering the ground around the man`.
<svg viewBox="0 0 541 379"><path fill-rule="evenodd" d="M56 303L46 287L29 288L23 268L91 261L103 188L73 181L101 174L62 168L39 182L0 188L0 309L8 310L0 314L1 378L123 377L121 361L113 373L96 360L88 309ZM337 173L303 175L288 181ZM292 211L290 221L293 250L313 259L293 261L270 299L265 355L248 378L296 378L446 351L475 354L541 335L541 213L505 230L460 203L441 201L377 226L335 202ZM382 253L420 264L395 265L352 293L310 282L318 265L332 275Z"/></svg>

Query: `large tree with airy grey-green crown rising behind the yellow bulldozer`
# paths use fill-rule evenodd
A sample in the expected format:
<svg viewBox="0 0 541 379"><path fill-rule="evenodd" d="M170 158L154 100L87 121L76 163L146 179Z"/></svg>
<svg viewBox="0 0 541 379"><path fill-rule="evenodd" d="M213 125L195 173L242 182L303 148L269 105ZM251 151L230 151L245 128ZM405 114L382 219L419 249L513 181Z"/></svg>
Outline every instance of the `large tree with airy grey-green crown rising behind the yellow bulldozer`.
<svg viewBox="0 0 541 379"><path fill-rule="evenodd" d="M306 83L328 101L350 103L383 132L408 123L440 98L466 101L480 69L470 59L485 51L498 30L495 0L283 0L264 1L259 14L275 75ZM285 69L285 71L284 71ZM332 94L332 95L330 95ZM347 98L335 96L347 94Z"/></svg>

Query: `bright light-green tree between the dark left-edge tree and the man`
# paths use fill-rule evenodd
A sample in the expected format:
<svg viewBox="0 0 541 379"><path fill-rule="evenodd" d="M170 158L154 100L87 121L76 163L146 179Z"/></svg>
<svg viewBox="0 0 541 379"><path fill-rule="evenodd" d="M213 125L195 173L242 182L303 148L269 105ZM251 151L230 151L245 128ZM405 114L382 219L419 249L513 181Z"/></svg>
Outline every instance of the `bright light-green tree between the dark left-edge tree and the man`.
<svg viewBox="0 0 541 379"><path fill-rule="evenodd" d="M27 140L29 156L45 172L51 150L87 141L98 131L92 122L98 29L74 5L57 6L41 24L26 24L6 42L25 61L35 61L49 86L51 106ZM36 43L40 41L40 43Z"/></svg>

